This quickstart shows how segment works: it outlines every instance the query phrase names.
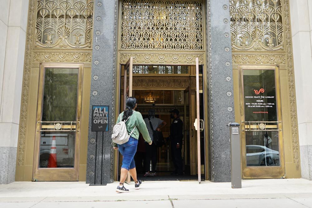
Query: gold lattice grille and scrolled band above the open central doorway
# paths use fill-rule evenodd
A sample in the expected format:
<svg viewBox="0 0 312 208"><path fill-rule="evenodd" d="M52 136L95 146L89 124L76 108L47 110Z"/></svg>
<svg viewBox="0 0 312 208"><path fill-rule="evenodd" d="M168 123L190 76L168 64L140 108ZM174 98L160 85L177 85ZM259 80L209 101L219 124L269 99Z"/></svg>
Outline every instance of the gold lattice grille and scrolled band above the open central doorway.
<svg viewBox="0 0 312 208"><path fill-rule="evenodd" d="M205 19L201 0L122 0L119 63L205 63Z"/></svg>

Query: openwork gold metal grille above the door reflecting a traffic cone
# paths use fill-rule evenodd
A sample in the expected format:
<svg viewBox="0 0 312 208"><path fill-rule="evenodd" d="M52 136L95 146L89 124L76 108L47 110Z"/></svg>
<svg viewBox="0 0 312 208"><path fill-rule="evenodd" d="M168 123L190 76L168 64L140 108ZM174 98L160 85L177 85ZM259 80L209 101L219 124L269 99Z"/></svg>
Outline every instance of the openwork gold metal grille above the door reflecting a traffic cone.
<svg viewBox="0 0 312 208"><path fill-rule="evenodd" d="M93 0L38 0L35 46L91 47Z"/></svg>

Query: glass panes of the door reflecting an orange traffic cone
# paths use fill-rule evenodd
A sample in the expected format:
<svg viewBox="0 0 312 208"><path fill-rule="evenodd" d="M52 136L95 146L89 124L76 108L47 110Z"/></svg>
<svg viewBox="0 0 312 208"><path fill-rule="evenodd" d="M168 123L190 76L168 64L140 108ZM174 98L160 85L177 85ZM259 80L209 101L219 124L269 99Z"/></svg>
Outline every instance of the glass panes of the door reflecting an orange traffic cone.
<svg viewBox="0 0 312 208"><path fill-rule="evenodd" d="M62 130L67 131L41 132L40 168L74 167L76 133L71 130L76 129L77 92L78 69L45 68L42 129L51 128L49 126L53 129L56 123L60 123L67 125L62 126ZM48 127L44 127L45 125Z"/></svg>

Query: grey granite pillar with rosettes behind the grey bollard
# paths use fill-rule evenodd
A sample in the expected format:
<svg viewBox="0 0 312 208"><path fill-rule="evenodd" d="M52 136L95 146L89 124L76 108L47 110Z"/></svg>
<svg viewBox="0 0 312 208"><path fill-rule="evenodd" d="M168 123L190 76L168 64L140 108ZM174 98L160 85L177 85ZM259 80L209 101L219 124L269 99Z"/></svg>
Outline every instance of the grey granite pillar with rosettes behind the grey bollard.
<svg viewBox="0 0 312 208"><path fill-rule="evenodd" d="M208 0L207 11L211 180L228 182L231 181L231 160L227 125L235 120L232 53L225 50L231 48L229 1Z"/></svg>

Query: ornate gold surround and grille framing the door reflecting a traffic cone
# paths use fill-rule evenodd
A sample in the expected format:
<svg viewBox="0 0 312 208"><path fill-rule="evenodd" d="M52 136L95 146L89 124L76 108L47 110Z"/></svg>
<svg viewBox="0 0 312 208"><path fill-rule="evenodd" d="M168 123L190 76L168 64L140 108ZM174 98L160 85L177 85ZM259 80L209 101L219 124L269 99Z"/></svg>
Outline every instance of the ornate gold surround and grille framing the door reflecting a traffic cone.
<svg viewBox="0 0 312 208"><path fill-rule="evenodd" d="M83 63L81 114L88 118L92 55L93 0L30 0L27 23L16 181L32 180L41 63ZM87 93L86 93L87 91ZM87 109L87 110L85 110ZM83 124L85 123L85 124ZM79 164L85 180L87 119L81 120Z"/></svg>

